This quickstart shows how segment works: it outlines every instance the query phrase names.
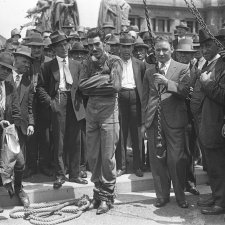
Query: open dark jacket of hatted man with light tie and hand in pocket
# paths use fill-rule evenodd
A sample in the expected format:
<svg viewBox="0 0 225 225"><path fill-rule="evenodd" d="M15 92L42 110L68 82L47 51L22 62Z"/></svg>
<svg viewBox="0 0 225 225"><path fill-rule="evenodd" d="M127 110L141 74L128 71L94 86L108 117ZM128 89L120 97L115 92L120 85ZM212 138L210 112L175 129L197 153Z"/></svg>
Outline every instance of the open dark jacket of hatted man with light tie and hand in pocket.
<svg viewBox="0 0 225 225"><path fill-rule="evenodd" d="M83 106L82 96L78 91L78 81L81 74L81 64L75 60L69 59L69 69L73 78L71 87L71 98L74 113L77 120L85 118L85 109ZM38 79L37 94L40 102L46 107L51 107L54 104L55 97L58 94L60 81L60 72L57 59L53 59L42 65L42 73ZM53 108L51 108L54 110Z"/></svg>

